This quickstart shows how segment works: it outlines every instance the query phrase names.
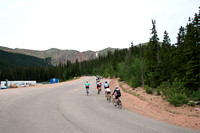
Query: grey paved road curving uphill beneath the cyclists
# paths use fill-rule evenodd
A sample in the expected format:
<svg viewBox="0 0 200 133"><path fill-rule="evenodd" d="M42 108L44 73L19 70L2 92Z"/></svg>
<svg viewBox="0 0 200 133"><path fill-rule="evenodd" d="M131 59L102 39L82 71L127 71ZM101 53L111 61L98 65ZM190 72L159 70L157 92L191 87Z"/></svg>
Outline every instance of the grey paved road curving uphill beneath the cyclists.
<svg viewBox="0 0 200 133"><path fill-rule="evenodd" d="M0 90L0 133L198 133L118 109L95 87L95 78L86 77L53 88Z"/></svg>

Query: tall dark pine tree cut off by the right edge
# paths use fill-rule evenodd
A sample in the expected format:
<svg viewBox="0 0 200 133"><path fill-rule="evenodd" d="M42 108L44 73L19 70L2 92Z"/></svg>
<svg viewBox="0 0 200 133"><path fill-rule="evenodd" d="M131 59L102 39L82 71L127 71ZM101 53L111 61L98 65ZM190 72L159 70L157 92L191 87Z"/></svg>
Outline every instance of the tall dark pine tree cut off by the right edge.
<svg viewBox="0 0 200 133"><path fill-rule="evenodd" d="M187 88L197 90L200 88L200 13L186 27L183 81Z"/></svg>

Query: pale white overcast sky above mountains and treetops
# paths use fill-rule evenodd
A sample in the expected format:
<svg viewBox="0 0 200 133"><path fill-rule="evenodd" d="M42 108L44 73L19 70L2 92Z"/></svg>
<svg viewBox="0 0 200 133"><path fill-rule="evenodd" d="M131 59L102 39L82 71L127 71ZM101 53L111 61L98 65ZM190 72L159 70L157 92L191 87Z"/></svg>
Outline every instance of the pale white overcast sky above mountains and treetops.
<svg viewBox="0 0 200 133"><path fill-rule="evenodd" d="M0 46L98 51L148 42L152 19L160 41L176 43L200 0L0 0Z"/></svg>

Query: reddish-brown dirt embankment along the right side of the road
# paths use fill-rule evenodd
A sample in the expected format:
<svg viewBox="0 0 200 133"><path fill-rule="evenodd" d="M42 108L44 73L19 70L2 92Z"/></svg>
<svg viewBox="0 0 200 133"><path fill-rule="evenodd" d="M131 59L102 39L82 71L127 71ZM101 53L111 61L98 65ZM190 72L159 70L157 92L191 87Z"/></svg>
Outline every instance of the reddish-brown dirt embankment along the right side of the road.
<svg viewBox="0 0 200 133"><path fill-rule="evenodd" d="M123 107L149 118L200 131L200 107L174 107L161 96L147 94L141 87L133 90L124 82L112 79L110 88L119 86ZM113 91L113 90L112 90Z"/></svg>

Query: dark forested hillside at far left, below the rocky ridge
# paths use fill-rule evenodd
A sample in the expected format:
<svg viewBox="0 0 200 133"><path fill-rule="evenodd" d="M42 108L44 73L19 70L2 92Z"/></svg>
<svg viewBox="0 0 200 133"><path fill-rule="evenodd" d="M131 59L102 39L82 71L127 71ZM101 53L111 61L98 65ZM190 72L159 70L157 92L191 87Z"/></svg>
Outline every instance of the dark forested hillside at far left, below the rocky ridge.
<svg viewBox="0 0 200 133"><path fill-rule="evenodd" d="M0 68L51 66L50 58L41 59L29 55L0 50Z"/></svg>

